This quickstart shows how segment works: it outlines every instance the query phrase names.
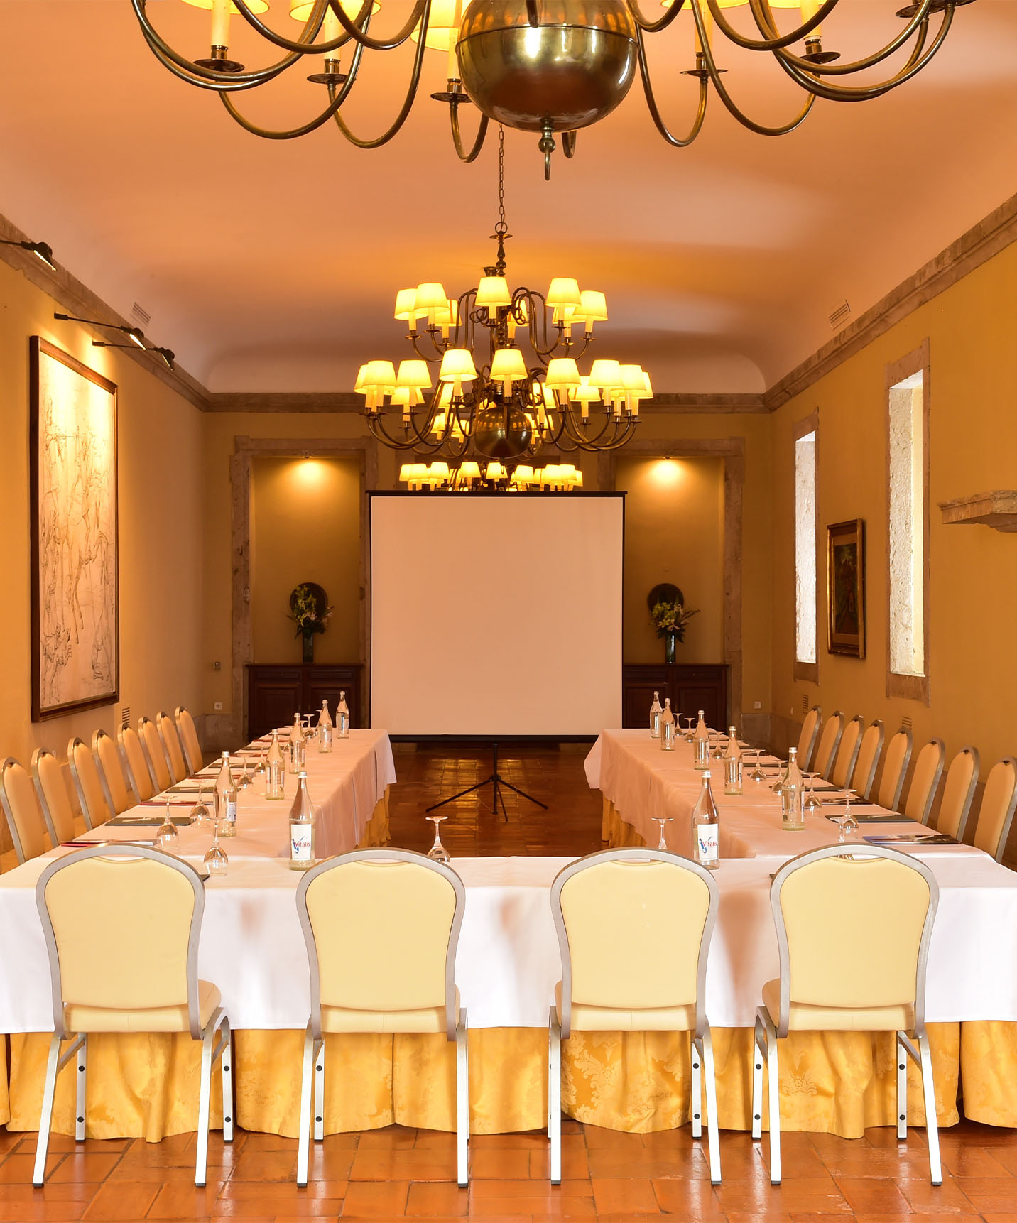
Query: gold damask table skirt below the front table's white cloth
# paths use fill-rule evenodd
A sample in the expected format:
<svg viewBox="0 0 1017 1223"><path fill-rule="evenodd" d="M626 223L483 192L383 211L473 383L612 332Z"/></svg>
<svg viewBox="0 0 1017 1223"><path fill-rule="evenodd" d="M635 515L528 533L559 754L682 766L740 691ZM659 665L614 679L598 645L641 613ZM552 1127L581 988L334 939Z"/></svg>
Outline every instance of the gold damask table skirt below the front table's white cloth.
<svg viewBox="0 0 1017 1223"><path fill-rule="evenodd" d="M958 1079L964 1113L1017 1126L1017 1025L930 1024L940 1125L956 1124ZM236 1119L248 1130L295 1136L303 1033L235 1036ZM10 1121L38 1126L45 1033L11 1037ZM130 1033L89 1038L90 1137L145 1137L193 1130L199 1047L189 1036ZM749 1128L752 1031L714 1030L720 1124ZM581 1121L644 1134L688 1120L688 1037L666 1032L577 1033L562 1049L565 1112ZM911 1070L909 1070L911 1073ZM57 1086L54 1129L73 1134L73 1065ZM326 1041L325 1129L368 1130L397 1121L455 1129L453 1049L444 1036L335 1036ZM542 1129L546 1117L546 1033L479 1029L469 1033L474 1134ZM781 1117L788 1130L858 1137L895 1123L891 1037L796 1032L781 1044ZM924 1123L917 1079L912 1124ZM221 1124L218 1087L213 1124Z"/></svg>

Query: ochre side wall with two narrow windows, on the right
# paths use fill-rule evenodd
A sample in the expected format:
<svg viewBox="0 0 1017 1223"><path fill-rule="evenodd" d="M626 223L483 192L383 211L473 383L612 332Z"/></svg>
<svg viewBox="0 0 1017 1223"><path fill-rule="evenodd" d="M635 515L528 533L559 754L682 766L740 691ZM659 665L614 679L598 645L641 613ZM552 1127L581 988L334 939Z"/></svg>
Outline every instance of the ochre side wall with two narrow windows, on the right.
<svg viewBox="0 0 1017 1223"><path fill-rule="evenodd" d="M983 778L1017 751L1017 536L946 526L940 501L1017 484L1017 246L919 307L773 417L774 711L801 719L802 697L824 711L881 718L887 734L913 722L916 751L930 736L947 761L973 744ZM930 346L930 704L887 698L887 510L885 367ZM792 426L819 410L819 685L795 682ZM826 653L826 525L865 520L868 647L864 660ZM1011 844L1013 844L1011 841Z"/></svg>

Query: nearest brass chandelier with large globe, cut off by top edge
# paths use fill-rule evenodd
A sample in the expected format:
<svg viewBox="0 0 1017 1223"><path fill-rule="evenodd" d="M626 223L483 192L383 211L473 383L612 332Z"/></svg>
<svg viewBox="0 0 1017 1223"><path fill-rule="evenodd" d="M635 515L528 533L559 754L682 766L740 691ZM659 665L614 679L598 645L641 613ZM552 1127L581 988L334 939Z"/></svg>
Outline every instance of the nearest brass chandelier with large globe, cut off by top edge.
<svg viewBox="0 0 1017 1223"><path fill-rule="evenodd" d="M891 12L885 42L856 60L842 60L828 34L851 33L862 7L846 0L181 0L211 10L209 54L172 48L149 18L147 0L131 0L148 45L175 76L215 92L230 115L247 131L268 139L291 139L335 124L357 148L378 148L406 122L420 86L429 53L447 61L446 88L431 98L447 105L452 142L464 161L484 143L490 121L539 132L545 174L560 136L566 157L576 149L576 132L599 122L625 99L638 75L647 106L669 144L683 148L703 128L710 88L724 106L753 132L780 136L808 115L817 98L863 102L878 98L919 72L940 49L953 10L972 0L914 0ZM262 17L271 6L287 18ZM645 7L644 7L645 6ZM391 29L379 10L389 7L392 32L375 34L375 22ZM649 10L649 11L647 11ZM736 10L743 10L741 13ZM790 10L785 12L784 10ZM839 20L831 21L836 17ZM275 16L275 13L273 13ZM292 18L292 20L290 20ZM243 22L263 40L271 62L248 68L231 54L230 24ZM298 24L293 24L293 22ZM699 83L698 104L683 132L676 135L654 95L647 42L675 24L665 71L683 71ZM685 24L683 42L677 34ZM829 28L828 28L829 27ZM689 37L691 35L691 37ZM824 44L826 38L826 44ZM792 114L779 124L762 122L737 103L737 88L724 79L722 40L746 51L771 56L784 76L802 91ZM394 91L395 115L381 117L376 135L356 133L342 115L362 67L381 53L416 43L406 88ZM193 55L193 50L191 53ZM308 73L307 67L313 70ZM885 65L885 67L884 67ZM235 98L269 84L290 70L307 73L324 91L306 122L291 128L262 127L246 117ZM365 68L370 75L372 68ZM780 73L777 73L780 76ZM385 91L389 97L389 91ZM401 105L398 99L401 100ZM480 111L471 142L460 130L460 109Z"/></svg>

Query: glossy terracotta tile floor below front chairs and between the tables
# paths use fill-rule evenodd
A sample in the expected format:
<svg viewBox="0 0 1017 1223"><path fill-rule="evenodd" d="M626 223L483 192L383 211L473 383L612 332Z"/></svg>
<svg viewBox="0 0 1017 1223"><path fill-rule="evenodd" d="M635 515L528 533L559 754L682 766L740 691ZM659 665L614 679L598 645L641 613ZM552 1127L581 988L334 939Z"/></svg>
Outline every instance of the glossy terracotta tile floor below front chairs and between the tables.
<svg viewBox="0 0 1017 1223"><path fill-rule="evenodd" d="M588 852L600 844L600 800L582 772L584 750L568 746L515 750L502 762L508 780L548 802L543 812L506 797L507 823L482 801L450 804L442 840L453 854ZM429 802L464 789L489 772L482 752L400 750L400 784L392 791L395 844L424 849ZM725 1181L710 1185L700 1145L688 1128L664 1134L619 1134L564 1124L561 1186L546 1180L540 1134L473 1139L472 1181L452 1181L450 1134L394 1126L325 1139L312 1157L306 1190L293 1184L296 1141L238 1132L232 1147L214 1134L205 1189L193 1185L194 1135L51 1145L50 1178L31 1185L34 1134L0 1128L0 1223L70 1223L159 1219L293 1223L297 1219L477 1219L543 1223L597 1219L645 1223L900 1223L911 1216L1017 1223L1017 1132L962 1123L942 1134L944 1184L933 1189L924 1163L924 1132L913 1131L906 1153L891 1130L847 1141L825 1134L787 1134L785 1181L769 1183L766 1145L724 1132Z"/></svg>

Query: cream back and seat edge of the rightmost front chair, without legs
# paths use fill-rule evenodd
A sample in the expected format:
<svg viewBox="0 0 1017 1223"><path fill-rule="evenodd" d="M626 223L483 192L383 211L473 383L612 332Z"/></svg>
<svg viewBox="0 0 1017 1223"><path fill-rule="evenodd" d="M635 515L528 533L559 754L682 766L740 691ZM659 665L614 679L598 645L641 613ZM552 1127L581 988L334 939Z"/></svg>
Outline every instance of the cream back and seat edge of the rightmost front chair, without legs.
<svg viewBox="0 0 1017 1223"><path fill-rule="evenodd" d="M791 1003L856 1010L913 1005L925 1020L925 965L939 888L924 862L883 845L826 845L786 862L770 905L780 951L780 1024ZM830 931L850 929L831 954Z"/></svg>

